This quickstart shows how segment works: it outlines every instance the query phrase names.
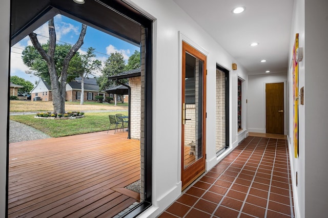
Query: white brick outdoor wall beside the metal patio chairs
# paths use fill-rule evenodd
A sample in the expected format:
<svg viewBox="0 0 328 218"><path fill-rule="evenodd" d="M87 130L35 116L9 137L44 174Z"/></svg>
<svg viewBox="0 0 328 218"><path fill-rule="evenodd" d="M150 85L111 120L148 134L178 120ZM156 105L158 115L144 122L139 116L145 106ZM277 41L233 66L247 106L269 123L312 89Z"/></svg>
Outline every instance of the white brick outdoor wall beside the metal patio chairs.
<svg viewBox="0 0 328 218"><path fill-rule="evenodd" d="M140 119L141 119L141 78L129 78L131 87L131 115L130 115L130 136L132 139L140 140Z"/></svg>

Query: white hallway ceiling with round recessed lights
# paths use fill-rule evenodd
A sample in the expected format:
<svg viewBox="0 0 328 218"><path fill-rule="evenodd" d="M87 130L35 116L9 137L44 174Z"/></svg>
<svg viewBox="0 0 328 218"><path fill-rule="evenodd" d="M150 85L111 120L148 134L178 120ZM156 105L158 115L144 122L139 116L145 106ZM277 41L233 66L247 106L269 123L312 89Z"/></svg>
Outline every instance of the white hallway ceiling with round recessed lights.
<svg viewBox="0 0 328 218"><path fill-rule="evenodd" d="M287 72L294 0L173 0L249 73ZM245 11L233 14L235 7ZM251 47L252 42L259 45ZM265 59L267 62L260 62Z"/></svg>

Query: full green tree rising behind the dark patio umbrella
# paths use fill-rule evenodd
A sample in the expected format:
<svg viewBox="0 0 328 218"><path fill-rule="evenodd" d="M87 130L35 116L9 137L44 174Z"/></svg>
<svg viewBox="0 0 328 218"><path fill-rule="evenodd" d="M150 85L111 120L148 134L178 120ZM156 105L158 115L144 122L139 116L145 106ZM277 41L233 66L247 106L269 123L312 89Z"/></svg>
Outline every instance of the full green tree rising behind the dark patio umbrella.
<svg viewBox="0 0 328 218"><path fill-rule="evenodd" d="M108 89L115 85L115 81L108 80L109 76L113 76L123 72L125 69L124 57L121 53L111 53L111 56L105 61L105 67L101 71L101 76L98 78L99 91Z"/></svg>

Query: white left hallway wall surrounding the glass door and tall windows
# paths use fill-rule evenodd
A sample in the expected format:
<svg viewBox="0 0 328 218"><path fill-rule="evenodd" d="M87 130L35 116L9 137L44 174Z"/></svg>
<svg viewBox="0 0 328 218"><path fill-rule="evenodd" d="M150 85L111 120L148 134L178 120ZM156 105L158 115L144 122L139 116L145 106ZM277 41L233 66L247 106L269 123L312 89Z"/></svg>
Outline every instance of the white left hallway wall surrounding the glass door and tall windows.
<svg viewBox="0 0 328 218"><path fill-rule="evenodd" d="M237 145L237 75L246 72L213 38L172 1L131 0L133 6L153 17L153 207L142 216L154 217L181 193L181 50L179 31L208 53L207 59L207 168L217 163L215 155L216 63L230 70L230 142ZM168 64L170 63L170 64ZM170 84L170 89L168 89ZM170 96L170 107L167 106Z"/></svg>

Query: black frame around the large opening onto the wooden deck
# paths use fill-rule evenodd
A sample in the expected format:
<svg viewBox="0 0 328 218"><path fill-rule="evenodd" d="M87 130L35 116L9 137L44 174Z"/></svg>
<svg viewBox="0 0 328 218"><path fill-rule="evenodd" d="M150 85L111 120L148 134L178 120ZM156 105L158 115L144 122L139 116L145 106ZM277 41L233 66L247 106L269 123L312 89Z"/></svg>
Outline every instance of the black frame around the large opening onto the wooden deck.
<svg viewBox="0 0 328 218"><path fill-rule="evenodd" d="M12 0L11 0L12 2ZM38 0L38 2L42 2L42 0ZM33 17L30 19L30 17L27 17L27 20L29 21L29 25L26 25L22 27L22 30L20 30L19 34L23 31L30 32L31 26L34 26L35 23L42 17L42 16L52 16L54 13L57 13L58 11L65 15L68 16L72 19L75 19L77 21L82 21L83 23L86 23L88 26L92 26L93 28L100 29L100 31L103 31L105 33L108 33L108 30L101 25L98 24L92 24L93 22L90 21L90 15L89 14L79 14L77 13L78 7L72 7L72 8L62 8L58 7L61 6L60 2L56 1L44 1L45 4L47 4L47 7L45 10L37 11L37 16ZM114 0L114 1L109 1L109 0L95 0L94 3L92 4L99 4L101 3L104 8L110 8L110 10L113 10L115 13L119 13L120 15L127 16L129 19L133 20L135 23L141 25L142 27L145 28L145 45L144 48L144 53L145 53L145 105L144 105L144 110L145 110L145 118L144 118L144 138L145 138L145 149L144 149L144 161L145 161L145 169L144 169L144 177L145 177L145 199L144 201L140 202L136 207L131 209L126 215L130 217L136 217L140 213L144 212L146 209L148 209L150 206L152 206L152 201L153 201L153 166L152 166L152 160L153 160L153 20L146 16L144 13L141 13L139 10L134 8L133 6L130 6L129 4ZM53 5L54 4L54 5ZM70 4L67 2L66 4ZM75 4L75 3L73 3ZM12 6L11 6L12 7ZM74 13L73 13L74 12ZM11 8L10 15L11 17L13 16L13 11ZM50 15L49 15L50 14ZM98 15L93 15L92 17L99 18ZM80 20L79 20L80 19ZM48 20L48 19L47 19ZM100 19L102 20L102 19ZM32 22L33 21L33 22ZM34 22L35 21L35 22ZM102 21L100 24L103 23ZM92 24L92 25L91 25ZM30 28L30 29L28 29ZM34 28L34 27L33 27ZM32 28L32 29L33 29ZM98 30L99 30L98 29ZM118 34L118 33L116 33ZM26 34L27 35L27 34ZM121 37L119 35L115 37ZM131 39L132 40L132 39ZM11 47L11 42L12 42L12 35L10 35L10 41L9 41L9 46ZM132 43L131 41L130 43ZM134 42L135 43L135 42ZM9 52L9 51L8 51ZM141 52L142 54L142 52ZM10 61L10 55L9 61ZM10 64L9 64L10 65ZM8 74L8 76L10 73ZM9 105L9 98L8 98L8 105ZM8 112L9 113L9 112ZM8 123L9 123L9 116L7 118ZM8 136L7 136L8 138ZM8 141L8 140L7 140ZM9 154L9 143L7 142L7 156ZM7 159L8 160L8 159ZM8 171L8 163L7 163L7 171ZM8 180L8 173L7 173L7 180ZM6 184L6 217L8 216L8 183Z"/></svg>

